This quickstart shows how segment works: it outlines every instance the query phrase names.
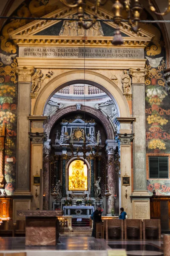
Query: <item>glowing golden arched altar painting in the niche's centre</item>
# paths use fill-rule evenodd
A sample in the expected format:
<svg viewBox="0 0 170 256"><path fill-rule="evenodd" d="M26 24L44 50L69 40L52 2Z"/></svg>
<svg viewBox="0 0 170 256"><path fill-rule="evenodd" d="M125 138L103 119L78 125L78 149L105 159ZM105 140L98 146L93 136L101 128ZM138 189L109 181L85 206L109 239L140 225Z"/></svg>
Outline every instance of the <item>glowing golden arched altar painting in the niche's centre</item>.
<svg viewBox="0 0 170 256"><path fill-rule="evenodd" d="M88 189L88 168L82 160L74 160L68 168L68 190Z"/></svg>

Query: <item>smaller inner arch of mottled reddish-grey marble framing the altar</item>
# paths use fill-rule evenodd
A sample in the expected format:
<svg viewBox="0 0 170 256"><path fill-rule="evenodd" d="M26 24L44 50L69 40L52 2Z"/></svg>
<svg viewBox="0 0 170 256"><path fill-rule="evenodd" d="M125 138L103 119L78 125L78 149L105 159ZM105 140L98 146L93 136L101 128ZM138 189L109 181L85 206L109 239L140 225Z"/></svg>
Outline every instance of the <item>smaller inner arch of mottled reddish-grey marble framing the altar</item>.
<svg viewBox="0 0 170 256"><path fill-rule="evenodd" d="M56 114L54 114L51 117L48 124L46 124L45 128L44 128L44 131L47 134L48 139L49 139L51 128L53 127L55 122L59 118L61 118L61 116L65 115L67 113L71 113L73 111L77 111L76 105L68 106L66 108L62 108L61 110L59 110ZM103 127L105 127L105 131L106 131L106 134L108 136L108 140L113 140L113 138L114 138L114 128L111 125L111 123L109 122L109 120L102 114L102 112L100 112L99 110L96 110L95 108L91 108L91 107L88 107L88 106L82 106L80 111L83 111L83 112L85 111L85 112L91 113L94 116L96 116L102 122Z"/></svg>

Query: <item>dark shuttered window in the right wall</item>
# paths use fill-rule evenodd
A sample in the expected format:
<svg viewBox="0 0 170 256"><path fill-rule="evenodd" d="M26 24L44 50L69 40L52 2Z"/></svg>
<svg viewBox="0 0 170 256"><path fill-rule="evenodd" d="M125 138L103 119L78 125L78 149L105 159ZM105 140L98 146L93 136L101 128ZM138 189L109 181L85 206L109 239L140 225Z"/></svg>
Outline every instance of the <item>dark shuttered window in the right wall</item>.
<svg viewBox="0 0 170 256"><path fill-rule="evenodd" d="M166 179L168 175L168 157L149 157L149 177Z"/></svg>

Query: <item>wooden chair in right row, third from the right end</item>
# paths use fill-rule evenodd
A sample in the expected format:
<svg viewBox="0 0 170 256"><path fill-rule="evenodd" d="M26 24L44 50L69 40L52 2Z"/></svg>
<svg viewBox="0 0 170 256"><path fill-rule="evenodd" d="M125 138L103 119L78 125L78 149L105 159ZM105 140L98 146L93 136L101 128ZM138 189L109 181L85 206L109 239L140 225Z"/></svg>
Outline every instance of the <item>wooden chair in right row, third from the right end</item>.
<svg viewBox="0 0 170 256"><path fill-rule="evenodd" d="M120 233L120 238L123 239L123 220L106 220L106 240L109 239L109 232L113 233L113 237L115 233L115 239L117 239L118 234Z"/></svg>

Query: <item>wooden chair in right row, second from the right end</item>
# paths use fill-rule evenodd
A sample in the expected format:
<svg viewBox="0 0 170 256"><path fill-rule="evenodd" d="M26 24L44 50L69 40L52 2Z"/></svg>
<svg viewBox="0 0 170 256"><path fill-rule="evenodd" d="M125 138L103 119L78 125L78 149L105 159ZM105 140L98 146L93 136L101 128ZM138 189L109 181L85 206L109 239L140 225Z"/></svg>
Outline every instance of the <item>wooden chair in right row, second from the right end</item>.
<svg viewBox="0 0 170 256"><path fill-rule="evenodd" d="M125 239L142 239L142 220L127 219L125 222Z"/></svg>

